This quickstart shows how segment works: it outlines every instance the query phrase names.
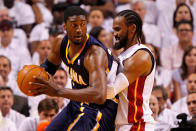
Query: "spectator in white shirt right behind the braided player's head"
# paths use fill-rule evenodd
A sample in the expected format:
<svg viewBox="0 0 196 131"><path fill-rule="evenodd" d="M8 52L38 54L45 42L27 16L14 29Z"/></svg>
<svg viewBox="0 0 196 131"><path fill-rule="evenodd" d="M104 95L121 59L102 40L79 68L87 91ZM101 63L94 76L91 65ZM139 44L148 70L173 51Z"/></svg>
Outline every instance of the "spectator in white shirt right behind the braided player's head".
<svg viewBox="0 0 196 131"><path fill-rule="evenodd" d="M144 21L144 18L146 16L146 8L144 2L142 0L133 2L131 9L137 12L143 21L142 31L144 33L146 43L151 43L154 46L161 48L161 35L158 27Z"/></svg>

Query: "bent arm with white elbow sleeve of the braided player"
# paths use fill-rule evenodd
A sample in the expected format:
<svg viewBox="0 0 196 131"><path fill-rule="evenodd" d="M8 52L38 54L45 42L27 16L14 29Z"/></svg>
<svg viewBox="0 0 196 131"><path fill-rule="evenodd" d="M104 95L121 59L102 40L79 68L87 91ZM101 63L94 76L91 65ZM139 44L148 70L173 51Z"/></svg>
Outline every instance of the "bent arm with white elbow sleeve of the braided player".
<svg viewBox="0 0 196 131"><path fill-rule="evenodd" d="M147 76L151 72L152 60L149 53L137 51L124 61L124 71L116 76L115 82L108 84L107 98L111 99L132 84L138 77Z"/></svg>

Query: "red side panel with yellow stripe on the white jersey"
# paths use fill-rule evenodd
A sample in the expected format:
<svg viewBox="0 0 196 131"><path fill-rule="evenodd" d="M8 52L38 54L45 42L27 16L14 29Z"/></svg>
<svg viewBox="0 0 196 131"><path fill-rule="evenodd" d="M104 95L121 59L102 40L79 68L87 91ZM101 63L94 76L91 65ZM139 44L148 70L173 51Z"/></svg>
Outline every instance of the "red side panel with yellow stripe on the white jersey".
<svg viewBox="0 0 196 131"><path fill-rule="evenodd" d="M146 76L147 77L147 76ZM143 116L143 89L146 77L139 77L128 87L128 123L138 123Z"/></svg>

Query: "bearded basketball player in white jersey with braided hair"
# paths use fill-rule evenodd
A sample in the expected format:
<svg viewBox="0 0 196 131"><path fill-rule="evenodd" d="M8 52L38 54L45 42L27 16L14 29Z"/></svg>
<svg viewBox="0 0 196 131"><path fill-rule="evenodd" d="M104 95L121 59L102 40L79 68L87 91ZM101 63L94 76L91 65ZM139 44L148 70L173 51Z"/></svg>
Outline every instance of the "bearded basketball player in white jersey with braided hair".
<svg viewBox="0 0 196 131"><path fill-rule="evenodd" d="M153 131L149 98L154 82L155 60L151 51L140 44L142 20L134 11L124 10L114 19L113 30L116 39L114 48L124 48L118 57L115 81L107 88L107 98L119 94L116 130Z"/></svg>

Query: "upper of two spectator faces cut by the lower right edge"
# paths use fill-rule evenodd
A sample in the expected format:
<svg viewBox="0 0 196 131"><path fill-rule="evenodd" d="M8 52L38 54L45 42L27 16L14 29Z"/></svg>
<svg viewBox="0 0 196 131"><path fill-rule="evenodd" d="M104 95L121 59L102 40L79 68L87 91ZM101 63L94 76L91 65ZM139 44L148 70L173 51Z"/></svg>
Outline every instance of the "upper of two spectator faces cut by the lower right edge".
<svg viewBox="0 0 196 131"><path fill-rule="evenodd" d="M187 91L196 92L196 73L189 75L187 79Z"/></svg>

